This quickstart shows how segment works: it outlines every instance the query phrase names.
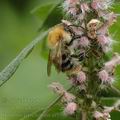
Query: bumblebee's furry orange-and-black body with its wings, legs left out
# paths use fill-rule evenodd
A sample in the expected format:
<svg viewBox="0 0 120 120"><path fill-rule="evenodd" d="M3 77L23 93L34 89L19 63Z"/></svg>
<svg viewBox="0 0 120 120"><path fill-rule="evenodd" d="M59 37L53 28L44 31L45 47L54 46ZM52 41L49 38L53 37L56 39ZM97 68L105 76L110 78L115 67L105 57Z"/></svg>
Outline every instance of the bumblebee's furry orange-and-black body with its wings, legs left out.
<svg viewBox="0 0 120 120"><path fill-rule="evenodd" d="M47 74L50 76L51 66L55 65L58 72L66 71L73 67L67 44L71 41L70 32L65 30L63 24L55 26L48 34L49 57Z"/></svg>

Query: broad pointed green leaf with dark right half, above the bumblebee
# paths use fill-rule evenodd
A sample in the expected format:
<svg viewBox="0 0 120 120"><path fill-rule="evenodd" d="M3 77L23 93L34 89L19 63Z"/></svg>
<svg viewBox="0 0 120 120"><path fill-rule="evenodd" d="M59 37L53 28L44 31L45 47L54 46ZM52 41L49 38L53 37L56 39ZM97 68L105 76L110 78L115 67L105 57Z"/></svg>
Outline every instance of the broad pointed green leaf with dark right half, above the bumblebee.
<svg viewBox="0 0 120 120"><path fill-rule="evenodd" d="M62 15L60 14L61 12L58 11L60 8L58 8L60 2L61 0L48 2L47 4L40 5L31 11L32 14L36 15L40 19L41 23L39 30L51 23L54 23L52 26L59 23L62 18Z"/></svg>

